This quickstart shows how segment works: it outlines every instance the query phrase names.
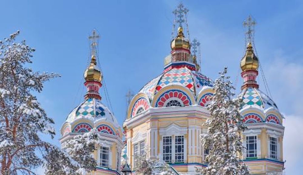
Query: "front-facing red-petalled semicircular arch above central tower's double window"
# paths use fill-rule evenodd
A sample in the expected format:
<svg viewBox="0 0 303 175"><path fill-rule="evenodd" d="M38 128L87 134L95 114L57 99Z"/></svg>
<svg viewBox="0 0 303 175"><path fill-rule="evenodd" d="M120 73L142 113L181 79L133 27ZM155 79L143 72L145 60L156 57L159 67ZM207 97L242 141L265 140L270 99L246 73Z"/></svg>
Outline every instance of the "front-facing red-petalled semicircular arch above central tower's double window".
<svg viewBox="0 0 303 175"><path fill-rule="evenodd" d="M176 106L189 106L192 105L192 101L184 91L170 89L158 97L155 107L169 107L171 104L178 104Z"/></svg>

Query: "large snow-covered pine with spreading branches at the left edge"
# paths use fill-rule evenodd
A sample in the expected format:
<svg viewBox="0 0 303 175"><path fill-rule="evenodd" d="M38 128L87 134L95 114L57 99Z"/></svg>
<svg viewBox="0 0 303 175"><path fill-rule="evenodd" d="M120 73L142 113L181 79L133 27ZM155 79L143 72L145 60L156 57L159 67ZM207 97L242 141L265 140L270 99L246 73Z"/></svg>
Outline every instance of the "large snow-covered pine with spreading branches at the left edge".
<svg viewBox="0 0 303 175"><path fill-rule="evenodd" d="M54 121L32 93L41 92L45 81L59 75L24 67L32 63L35 49L25 41L15 42L18 34L19 31L0 41L0 174L35 174L33 170L40 166L46 167L48 174L94 170L94 133L74 138L66 151L39 137L39 133L54 137ZM90 142L88 137L92 138Z"/></svg>

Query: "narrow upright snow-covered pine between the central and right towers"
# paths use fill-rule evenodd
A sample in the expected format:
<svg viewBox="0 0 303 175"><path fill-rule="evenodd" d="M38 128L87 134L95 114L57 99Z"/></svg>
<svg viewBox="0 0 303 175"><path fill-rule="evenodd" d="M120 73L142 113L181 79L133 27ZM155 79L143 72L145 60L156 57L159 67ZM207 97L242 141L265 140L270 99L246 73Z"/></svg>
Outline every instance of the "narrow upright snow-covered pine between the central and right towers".
<svg viewBox="0 0 303 175"><path fill-rule="evenodd" d="M197 169L204 175L248 175L248 167L238 157L243 146L241 131L245 129L239 113L242 98L232 92L230 77L226 76L227 68L219 72L220 77L214 84L212 102L207 107L211 117L205 122L207 134L202 135L202 144L209 148L206 156L208 167Z"/></svg>

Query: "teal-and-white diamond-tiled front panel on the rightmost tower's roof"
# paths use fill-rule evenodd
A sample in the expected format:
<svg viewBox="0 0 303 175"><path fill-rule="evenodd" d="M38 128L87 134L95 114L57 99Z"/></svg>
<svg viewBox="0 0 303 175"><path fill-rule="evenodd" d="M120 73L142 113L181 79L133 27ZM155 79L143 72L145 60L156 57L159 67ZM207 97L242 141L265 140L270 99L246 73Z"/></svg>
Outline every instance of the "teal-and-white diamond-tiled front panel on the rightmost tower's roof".
<svg viewBox="0 0 303 175"><path fill-rule="evenodd" d="M259 107L263 107L260 96L254 88L247 88L243 95L243 102L245 103L243 107L247 105L258 105Z"/></svg>

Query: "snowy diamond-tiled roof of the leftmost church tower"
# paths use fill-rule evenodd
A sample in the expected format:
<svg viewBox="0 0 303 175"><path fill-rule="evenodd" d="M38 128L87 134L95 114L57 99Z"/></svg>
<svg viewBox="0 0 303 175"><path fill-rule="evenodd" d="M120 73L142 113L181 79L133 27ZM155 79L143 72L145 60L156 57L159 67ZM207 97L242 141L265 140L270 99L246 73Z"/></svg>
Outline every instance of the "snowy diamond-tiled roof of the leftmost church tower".
<svg viewBox="0 0 303 175"><path fill-rule="evenodd" d="M119 126L115 116L112 112L101 103L100 100L95 98L88 98L77 106L66 118L67 122L72 122L77 118L91 118L92 120L98 120L105 118L106 121L109 121L114 124L114 126Z"/></svg>

